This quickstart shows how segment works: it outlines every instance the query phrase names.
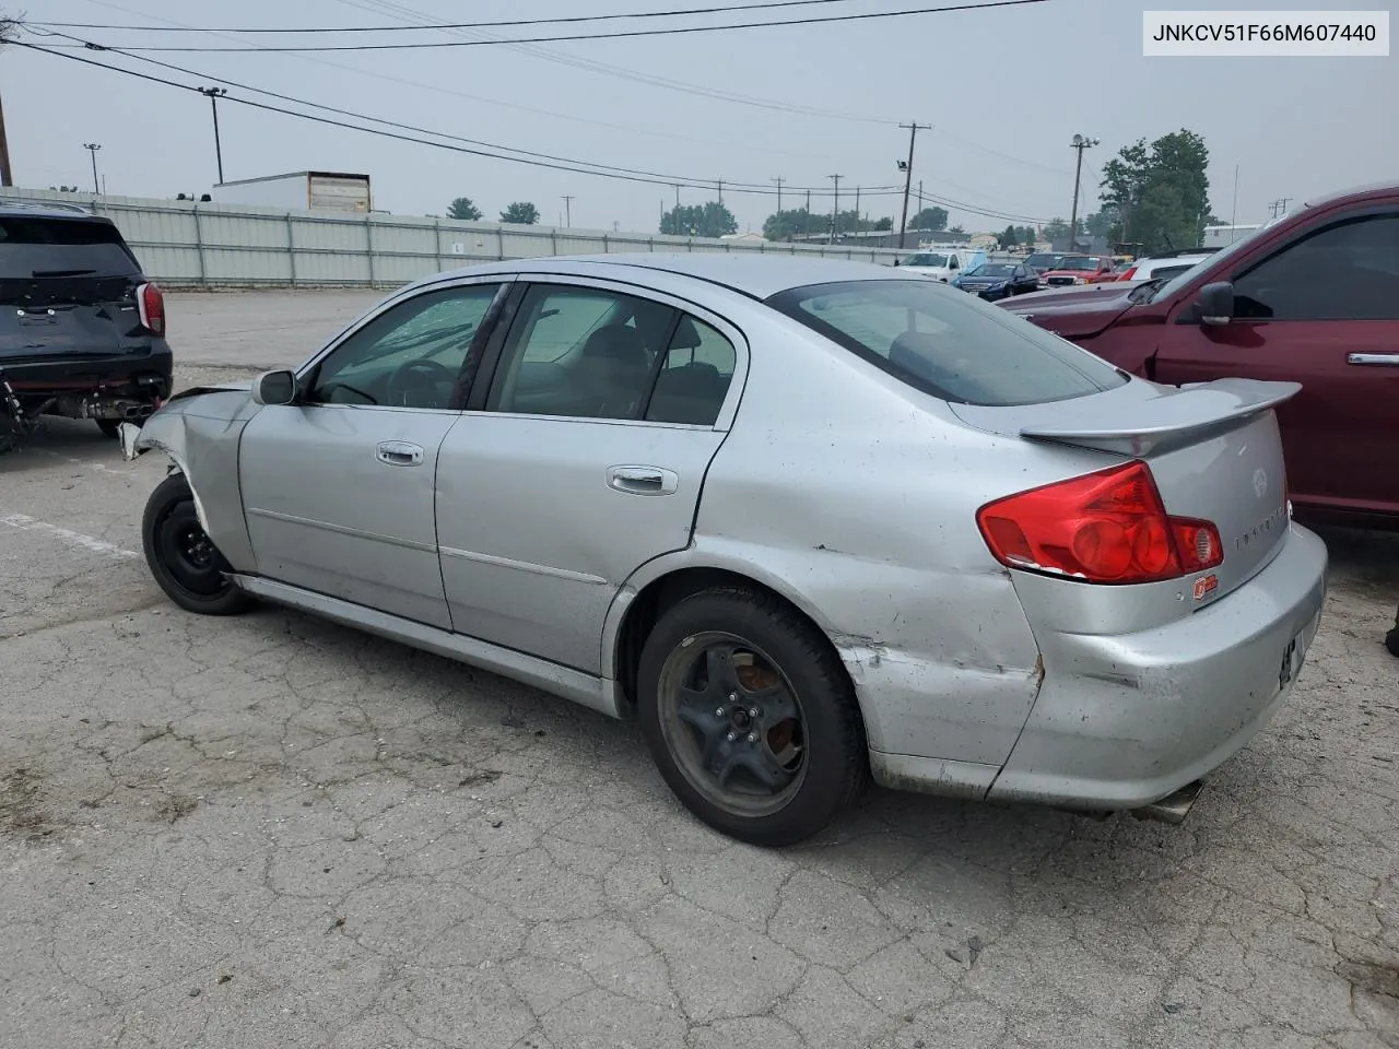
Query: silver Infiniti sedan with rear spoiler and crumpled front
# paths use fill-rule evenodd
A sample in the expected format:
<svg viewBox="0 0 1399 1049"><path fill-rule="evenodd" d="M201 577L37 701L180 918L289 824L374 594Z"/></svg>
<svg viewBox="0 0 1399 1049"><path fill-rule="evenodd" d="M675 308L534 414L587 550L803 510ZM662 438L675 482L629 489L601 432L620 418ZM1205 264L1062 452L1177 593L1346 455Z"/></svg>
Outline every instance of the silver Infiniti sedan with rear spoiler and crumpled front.
<svg viewBox="0 0 1399 1049"><path fill-rule="evenodd" d="M171 459L143 534L183 608L637 718L695 815L781 845L870 775L1184 818L1316 631L1295 390L1157 386L879 266L603 256L418 281L123 443Z"/></svg>

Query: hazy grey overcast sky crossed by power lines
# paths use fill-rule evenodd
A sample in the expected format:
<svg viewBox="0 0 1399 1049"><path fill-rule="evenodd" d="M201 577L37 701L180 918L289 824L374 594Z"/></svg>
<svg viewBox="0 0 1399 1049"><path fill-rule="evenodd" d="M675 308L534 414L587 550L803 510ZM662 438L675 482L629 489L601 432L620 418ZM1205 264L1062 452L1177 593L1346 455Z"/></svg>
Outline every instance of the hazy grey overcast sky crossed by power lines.
<svg viewBox="0 0 1399 1049"><path fill-rule="evenodd" d="M736 3L743 0L716 0ZM492 21L550 15L659 11L704 3L660 0L43 0L31 20L199 27L385 25ZM779 8L767 18L821 13L929 7L914 0L846 0ZM1181 7L1276 8L1277 0ZM1069 215L1074 131L1102 140L1084 162L1086 208L1097 206L1098 171L1118 148L1179 127L1210 148L1214 210L1228 218L1240 169L1238 221L1258 221L1277 197L1308 197L1399 175L1399 59L1144 59L1139 0L1048 0L1002 10L926 14L837 25L807 25L667 38L558 43L534 48L471 46L337 55L193 55L150 57L204 76L147 71L186 84L221 77L323 105L518 150L554 154L688 180L830 187L841 178L842 207L856 186L901 180L895 158L908 148L900 123L921 131L915 182L925 192L999 215L1046 220ZM1385 8L1375 0L1311 0L1309 10ZM711 15L704 21L757 21ZM646 20L642 25L655 24ZM620 29L534 27L497 35ZM109 46L269 45L283 38L207 34L132 34L71 29ZM348 42L364 42L360 35ZM478 39L481 34L372 35L403 42ZM34 36L24 39L39 42ZM297 38L285 42L311 42ZM315 42L347 42L344 36ZM73 52L70 52L73 53ZM80 52L143 69L140 63ZM595 64L582 69L579 63ZM596 64L604 66L603 70ZM680 90L639 83L666 78ZM698 88L700 91L695 91ZM722 101L722 91L792 113ZM8 48L0 55L0 94L11 162L21 186L91 186L83 143L102 144L109 193L173 196L206 192L215 180L208 102L193 92ZM229 95L257 98L229 88ZM306 168L364 172L375 207L397 214L442 213L469 196L488 218L512 200L533 201L546 222L569 194L575 227L653 231L669 186L618 182L392 141L224 102L220 106L227 179ZM713 190L683 189L698 203ZM796 193L785 193L790 207ZM725 203L740 229L761 228L771 196L726 186ZM828 197L813 211L828 213ZM895 196L862 194L872 218L898 214ZM950 208L968 229L1000 229L1004 217Z"/></svg>

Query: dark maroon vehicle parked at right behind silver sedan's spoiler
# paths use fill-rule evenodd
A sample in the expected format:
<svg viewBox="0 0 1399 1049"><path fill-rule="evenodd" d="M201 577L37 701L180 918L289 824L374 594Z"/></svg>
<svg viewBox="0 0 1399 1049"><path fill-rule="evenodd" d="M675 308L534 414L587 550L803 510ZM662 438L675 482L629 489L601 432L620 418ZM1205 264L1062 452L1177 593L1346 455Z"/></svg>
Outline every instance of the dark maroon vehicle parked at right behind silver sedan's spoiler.
<svg viewBox="0 0 1399 1049"><path fill-rule="evenodd" d="M1293 502L1399 527L1399 186L1316 200L1171 280L1010 309L1154 379L1300 382L1279 408Z"/></svg>

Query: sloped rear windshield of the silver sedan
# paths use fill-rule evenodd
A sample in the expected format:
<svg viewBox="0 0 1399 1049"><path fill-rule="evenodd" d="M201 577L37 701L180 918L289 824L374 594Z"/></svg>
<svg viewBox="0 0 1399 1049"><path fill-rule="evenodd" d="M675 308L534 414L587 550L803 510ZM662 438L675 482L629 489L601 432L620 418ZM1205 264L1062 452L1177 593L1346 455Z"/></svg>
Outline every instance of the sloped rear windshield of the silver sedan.
<svg viewBox="0 0 1399 1049"><path fill-rule="evenodd" d="M936 283L848 281L768 305L909 386L958 404L1042 404L1126 382L1105 361Z"/></svg>

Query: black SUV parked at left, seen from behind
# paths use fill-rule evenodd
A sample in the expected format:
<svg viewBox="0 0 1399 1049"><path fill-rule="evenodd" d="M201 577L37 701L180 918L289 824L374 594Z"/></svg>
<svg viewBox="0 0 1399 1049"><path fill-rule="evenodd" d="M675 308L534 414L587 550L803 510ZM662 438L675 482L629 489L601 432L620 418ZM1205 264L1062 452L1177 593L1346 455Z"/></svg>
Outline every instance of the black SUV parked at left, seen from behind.
<svg viewBox="0 0 1399 1049"><path fill-rule="evenodd" d="M169 389L165 299L112 221L0 200L0 452L42 415L116 436Z"/></svg>

